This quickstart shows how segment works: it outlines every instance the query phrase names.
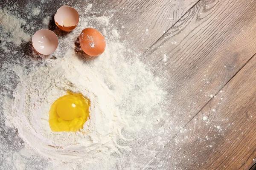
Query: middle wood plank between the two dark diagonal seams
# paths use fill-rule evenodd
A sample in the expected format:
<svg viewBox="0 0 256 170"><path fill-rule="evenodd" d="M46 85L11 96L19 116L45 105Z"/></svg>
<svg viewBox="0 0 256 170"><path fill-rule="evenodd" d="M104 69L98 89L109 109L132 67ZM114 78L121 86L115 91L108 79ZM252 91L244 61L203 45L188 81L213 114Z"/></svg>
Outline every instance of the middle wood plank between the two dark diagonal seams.
<svg viewBox="0 0 256 170"><path fill-rule="evenodd" d="M163 145L256 53L255 8L253 0L202 0L145 53L171 101L155 127Z"/></svg>

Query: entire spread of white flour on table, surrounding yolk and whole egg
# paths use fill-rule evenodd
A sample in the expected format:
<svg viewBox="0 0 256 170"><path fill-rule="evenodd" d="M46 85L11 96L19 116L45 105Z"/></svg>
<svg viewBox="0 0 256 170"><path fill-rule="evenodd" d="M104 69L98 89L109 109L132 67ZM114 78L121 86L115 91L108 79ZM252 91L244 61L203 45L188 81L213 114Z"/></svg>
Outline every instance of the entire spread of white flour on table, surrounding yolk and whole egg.
<svg viewBox="0 0 256 170"><path fill-rule="evenodd" d="M22 170L36 160L43 162L37 169L112 169L128 162L124 155L132 154L133 146L127 142L132 144L143 129L154 128L154 116L160 116L165 95L157 85L160 79L154 78L136 54L118 40L110 19L83 19L81 15L76 30L59 36L58 50L52 54L57 59L35 63L24 57L2 65L1 85L11 92L0 94L4 99L0 103L1 121L5 124L1 131L15 127L24 144L16 152L2 153L5 163L0 167ZM107 42L105 52L93 59L84 58L74 45L87 27L98 27ZM9 30L8 35L26 35L20 29L14 33ZM8 26L4 30L8 31ZM52 132L48 123L50 106L67 91L90 99L90 119L78 132ZM5 144L0 148L8 150Z"/></svg>

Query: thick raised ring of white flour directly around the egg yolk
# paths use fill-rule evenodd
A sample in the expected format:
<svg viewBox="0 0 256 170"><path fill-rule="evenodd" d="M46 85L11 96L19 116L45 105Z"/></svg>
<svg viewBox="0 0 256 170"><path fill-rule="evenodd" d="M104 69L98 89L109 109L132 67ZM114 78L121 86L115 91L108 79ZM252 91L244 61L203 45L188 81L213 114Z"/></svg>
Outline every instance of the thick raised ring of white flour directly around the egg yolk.
<svg viewBox="0 0 256 170"><path fill-rule="evenodd" d="M102 57L109 59L110 51L106 51ZM84 157L86 161L96 157L94 152L110 156L109 154L117 151L114 138L125 126L125 122L122 122L124 117L116 106L116 101L121 102L119 100L122 98L109 90L104 77L94 66L97 62L102 64L102 58L84 65L74 52L68 52L63 59L56 59L47 67L38 68L29 75L21 75L23 83L17 86L13 94L14 101L7 108L9 110L5 111L12 113L6 115L7 120L10 120L6 124L17 127L24 142L51 159L71 161L74 159L74 151L77 161ZM19 74L20 69L13 71ZM79 132L53 133L48 123L49 108L67 91L84 94L90 99L90 119ZM55 150L50 146L64 149ZM106 152L109 147L111 152Z"/></svg>

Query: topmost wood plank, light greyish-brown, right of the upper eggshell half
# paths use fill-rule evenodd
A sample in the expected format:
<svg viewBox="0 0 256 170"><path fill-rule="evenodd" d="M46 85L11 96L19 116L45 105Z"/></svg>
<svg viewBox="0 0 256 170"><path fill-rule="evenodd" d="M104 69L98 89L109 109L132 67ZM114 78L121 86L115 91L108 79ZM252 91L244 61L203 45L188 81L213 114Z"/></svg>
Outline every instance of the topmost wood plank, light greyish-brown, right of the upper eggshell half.
<svg viewBox="0 0 256 170"><path fill-rule="evenodd" d="M121 40L138 53L145 52L198 0L78 0L79 11L92 4L90 15L113 14L111 23L118 26Z"/></svg>

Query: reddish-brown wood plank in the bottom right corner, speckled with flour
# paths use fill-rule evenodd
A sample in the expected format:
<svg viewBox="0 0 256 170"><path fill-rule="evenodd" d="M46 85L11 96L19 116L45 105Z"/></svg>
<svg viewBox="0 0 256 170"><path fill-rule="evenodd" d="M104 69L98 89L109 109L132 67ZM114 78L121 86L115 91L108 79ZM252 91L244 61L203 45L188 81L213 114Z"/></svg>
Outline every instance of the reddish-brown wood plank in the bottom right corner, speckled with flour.
<svg viewBox="0 0 256 170"><path fill-rule="evenodd" d="M250 169L256 163L255 84L256 56L158 153L151 165L161 169Z"/></svg>

